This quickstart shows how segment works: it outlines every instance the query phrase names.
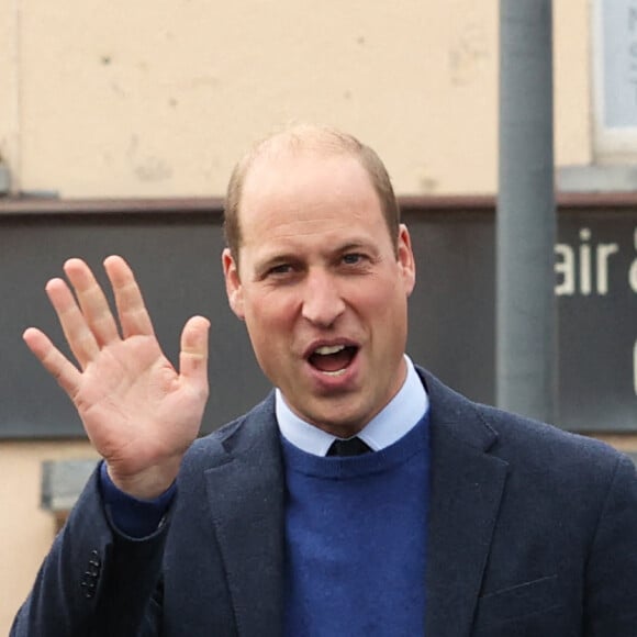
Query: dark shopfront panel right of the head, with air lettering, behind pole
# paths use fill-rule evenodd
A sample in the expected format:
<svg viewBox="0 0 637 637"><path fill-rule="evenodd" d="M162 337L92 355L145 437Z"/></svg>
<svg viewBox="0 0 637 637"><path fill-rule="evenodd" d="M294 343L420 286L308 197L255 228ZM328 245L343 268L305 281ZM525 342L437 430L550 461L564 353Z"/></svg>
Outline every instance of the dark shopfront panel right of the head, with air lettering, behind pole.
<svg viewBox="0 0 637 637"><path fill-rule="evenodd" d="M459 391L492 404L493 215L405 217L418 264L410 351ZM637 208L560 215L555 423L565 428L637 432L636 233Z"/></svg>

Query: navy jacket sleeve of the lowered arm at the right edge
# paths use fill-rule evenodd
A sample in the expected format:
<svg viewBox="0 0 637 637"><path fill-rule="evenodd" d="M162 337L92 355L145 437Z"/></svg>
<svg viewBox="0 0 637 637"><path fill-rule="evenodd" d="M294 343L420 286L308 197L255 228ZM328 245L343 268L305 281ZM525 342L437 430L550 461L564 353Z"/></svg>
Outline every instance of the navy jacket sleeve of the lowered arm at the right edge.
<svg viewBox="0 0 637 637"><path fill-rule="evenodd" d="M585 637L637 637L637 476L625 456L593 537L585 581Z"/></svg>

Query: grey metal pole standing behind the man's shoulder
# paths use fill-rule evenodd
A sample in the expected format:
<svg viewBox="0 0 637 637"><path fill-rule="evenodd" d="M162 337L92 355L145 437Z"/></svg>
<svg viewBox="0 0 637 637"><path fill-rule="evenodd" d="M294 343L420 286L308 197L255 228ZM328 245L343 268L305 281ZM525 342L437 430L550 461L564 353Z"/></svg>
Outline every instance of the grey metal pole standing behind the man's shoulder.
<svg viewBox="0 0 637 637"><path fill-rule="evenodd" d="M557 405L550 0L500 2L496 402L552 422Z"/></svg>

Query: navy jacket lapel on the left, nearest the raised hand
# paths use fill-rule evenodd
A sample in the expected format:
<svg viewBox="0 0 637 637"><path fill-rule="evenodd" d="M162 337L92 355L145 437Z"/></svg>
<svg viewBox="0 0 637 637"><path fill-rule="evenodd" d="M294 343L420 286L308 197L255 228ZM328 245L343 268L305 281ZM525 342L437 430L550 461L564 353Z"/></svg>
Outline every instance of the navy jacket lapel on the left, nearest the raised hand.
<svg viewBox="0 0 637 637"><path fill-rule="evenodd" d="M279 636L284 487L271 396L246 416L223 446L205 480L237 633Z"/></svg>

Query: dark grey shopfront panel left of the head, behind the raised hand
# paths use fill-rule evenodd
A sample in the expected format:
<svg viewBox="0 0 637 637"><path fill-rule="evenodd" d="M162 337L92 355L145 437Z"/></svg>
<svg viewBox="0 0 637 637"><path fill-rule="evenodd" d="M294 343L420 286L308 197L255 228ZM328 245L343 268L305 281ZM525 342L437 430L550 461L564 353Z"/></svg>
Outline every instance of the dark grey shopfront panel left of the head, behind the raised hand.
<svg viewBox="0 0 637 637"><path fill-rule="evenodd" d="M121 254L135 269L157 336L176 362L179 335L193 314L211 318L211 400L214 425L243 413L268 391L243 323L231 313L221 277L221 217L209 213L5 217L0 222L0 436L81 435L66 395L22 343L30 325L63 346L44 293L71 256L85 258L105 283L101 262ZM63 347L63 349L66 348ZM209 429L212 425L209 425Z"/></svg>

